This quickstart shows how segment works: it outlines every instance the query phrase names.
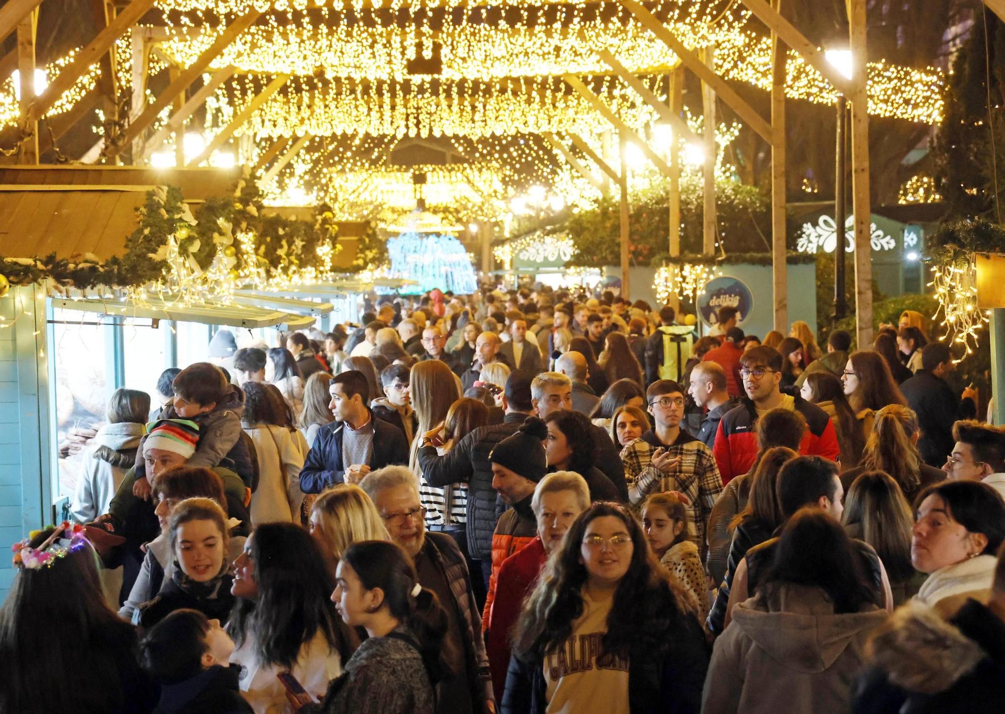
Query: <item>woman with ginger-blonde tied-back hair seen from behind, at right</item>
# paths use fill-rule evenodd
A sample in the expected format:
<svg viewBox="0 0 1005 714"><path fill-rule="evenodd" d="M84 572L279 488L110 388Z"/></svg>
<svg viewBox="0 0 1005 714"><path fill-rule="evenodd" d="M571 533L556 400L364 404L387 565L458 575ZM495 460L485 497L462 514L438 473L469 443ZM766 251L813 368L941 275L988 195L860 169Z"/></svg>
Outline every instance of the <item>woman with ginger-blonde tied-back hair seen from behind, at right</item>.
<svg viewBox="0 0 1005 714"><path fill-rule="evenodd" d="M858 467L841 474L844 492L865 472L881 471L897 483L908 503L913 504L926 487L945 481L946 472L922 461L918 452L921 434L918 415L910 407L890 404L879 409Z"/></svg>

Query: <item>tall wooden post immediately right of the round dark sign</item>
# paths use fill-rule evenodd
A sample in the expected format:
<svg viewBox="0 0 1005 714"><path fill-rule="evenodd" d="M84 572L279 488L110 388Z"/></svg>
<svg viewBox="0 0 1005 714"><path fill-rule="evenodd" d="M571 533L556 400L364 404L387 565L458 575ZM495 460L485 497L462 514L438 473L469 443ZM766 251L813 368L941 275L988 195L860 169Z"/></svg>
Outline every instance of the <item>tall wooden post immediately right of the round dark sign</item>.
<svg viewBox="0 0 1005 714"><path fill-rule="evenodd" d="M776 0L782 10L782 0ZM785 143L785 60L787 47L777 32L771 33L771 283L774 327L789 334L788 264L786 250L786 143Z"/></svg>

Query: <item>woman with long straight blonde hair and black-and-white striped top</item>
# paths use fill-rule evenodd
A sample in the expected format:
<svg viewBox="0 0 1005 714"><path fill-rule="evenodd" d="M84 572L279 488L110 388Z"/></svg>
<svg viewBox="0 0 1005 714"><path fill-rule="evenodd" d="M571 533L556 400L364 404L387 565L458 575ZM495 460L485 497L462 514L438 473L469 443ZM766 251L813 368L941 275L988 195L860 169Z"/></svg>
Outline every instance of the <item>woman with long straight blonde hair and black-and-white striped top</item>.
<svg viewBox="0 0 1005 714"><path fill-rule="evenodd" d="M429 486L422 478L417 459L422 435L446 419L450 406L461 397L460 386L446 364L431 359L412 367L409 393L419 423L412 439L408 466L419 477L419 501L426 509L426 525L462 530L467 522L467 487L462 484L442 489Z"/></svg>

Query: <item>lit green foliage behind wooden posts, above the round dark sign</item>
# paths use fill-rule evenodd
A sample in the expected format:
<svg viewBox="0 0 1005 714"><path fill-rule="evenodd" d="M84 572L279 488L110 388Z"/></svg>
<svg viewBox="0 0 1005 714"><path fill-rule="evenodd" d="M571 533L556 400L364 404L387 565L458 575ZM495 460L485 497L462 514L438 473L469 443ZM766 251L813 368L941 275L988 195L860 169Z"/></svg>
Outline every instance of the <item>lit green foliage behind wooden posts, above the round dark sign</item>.
<svg viewBox="0 0 1005 714"><path fill-rule="evenodd" d="M632 265L660 262L668 252L669 193L664 184L630 197L629 260ZM680 252L701 252L703 202L699 182L684 181L680 196ZM726 252L758 252L769 249L771 209L755 187L736 181L717 184L719 229ZM579 253L573 265L616 265L620 262L620 207L616 196L598 201L591 210L570 213L556 227L568 232Z"/></svg>

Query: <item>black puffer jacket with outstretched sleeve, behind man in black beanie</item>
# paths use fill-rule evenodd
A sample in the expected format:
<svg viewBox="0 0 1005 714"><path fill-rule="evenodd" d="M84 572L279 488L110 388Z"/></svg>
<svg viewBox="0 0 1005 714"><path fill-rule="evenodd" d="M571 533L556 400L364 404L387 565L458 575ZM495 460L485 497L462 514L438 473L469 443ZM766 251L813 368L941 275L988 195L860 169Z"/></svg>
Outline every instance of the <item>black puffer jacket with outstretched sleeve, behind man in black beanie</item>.
<svg viewBox="0 0 1005 714"><path fill-rule="evenodd" d="M488 455L496 443L517 433L528 416L510 412L502 423L474 429L442 457L433 447L419 449L419 468L430 486L467 483L467 548L475 560L491 558L492 533L504 511L492 488Z"/></svg>

